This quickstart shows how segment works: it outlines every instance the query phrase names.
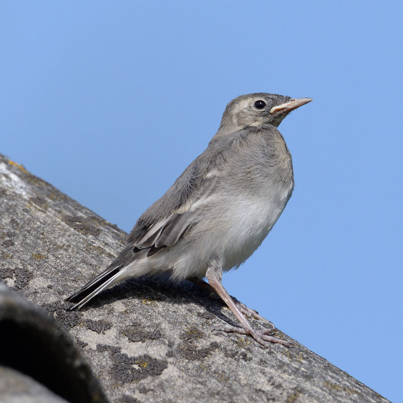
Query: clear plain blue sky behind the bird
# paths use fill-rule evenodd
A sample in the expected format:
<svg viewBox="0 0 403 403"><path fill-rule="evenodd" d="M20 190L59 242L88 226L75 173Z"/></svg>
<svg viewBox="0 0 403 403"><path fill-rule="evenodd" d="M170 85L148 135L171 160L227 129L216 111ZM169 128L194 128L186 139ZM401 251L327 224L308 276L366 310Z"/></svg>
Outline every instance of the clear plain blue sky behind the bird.
<svg viewBox="0 0 403 403"><path fill-rule="evenodd" d="M2 2L0 152L129 231L231 99L313 98L279 127L294 194L224 285L398 401L401 3L167 4Z"/></svg>

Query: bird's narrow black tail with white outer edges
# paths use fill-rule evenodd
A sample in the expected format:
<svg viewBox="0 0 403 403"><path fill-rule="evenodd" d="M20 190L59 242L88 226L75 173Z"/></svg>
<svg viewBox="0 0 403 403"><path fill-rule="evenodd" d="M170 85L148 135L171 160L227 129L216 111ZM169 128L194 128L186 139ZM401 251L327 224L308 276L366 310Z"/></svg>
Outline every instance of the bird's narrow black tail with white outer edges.
<svg viewBox="0 0 403 403"><path fill-rule="evenodd" d="M120 282L123 273L124 267L122 264L106 268L105 271L89 281L80 291L64 300L67 302L77 302L77 304L69 308L69 310L72 311L74 309L82 308L90 299L94 298L101 291Z"/></svg>

